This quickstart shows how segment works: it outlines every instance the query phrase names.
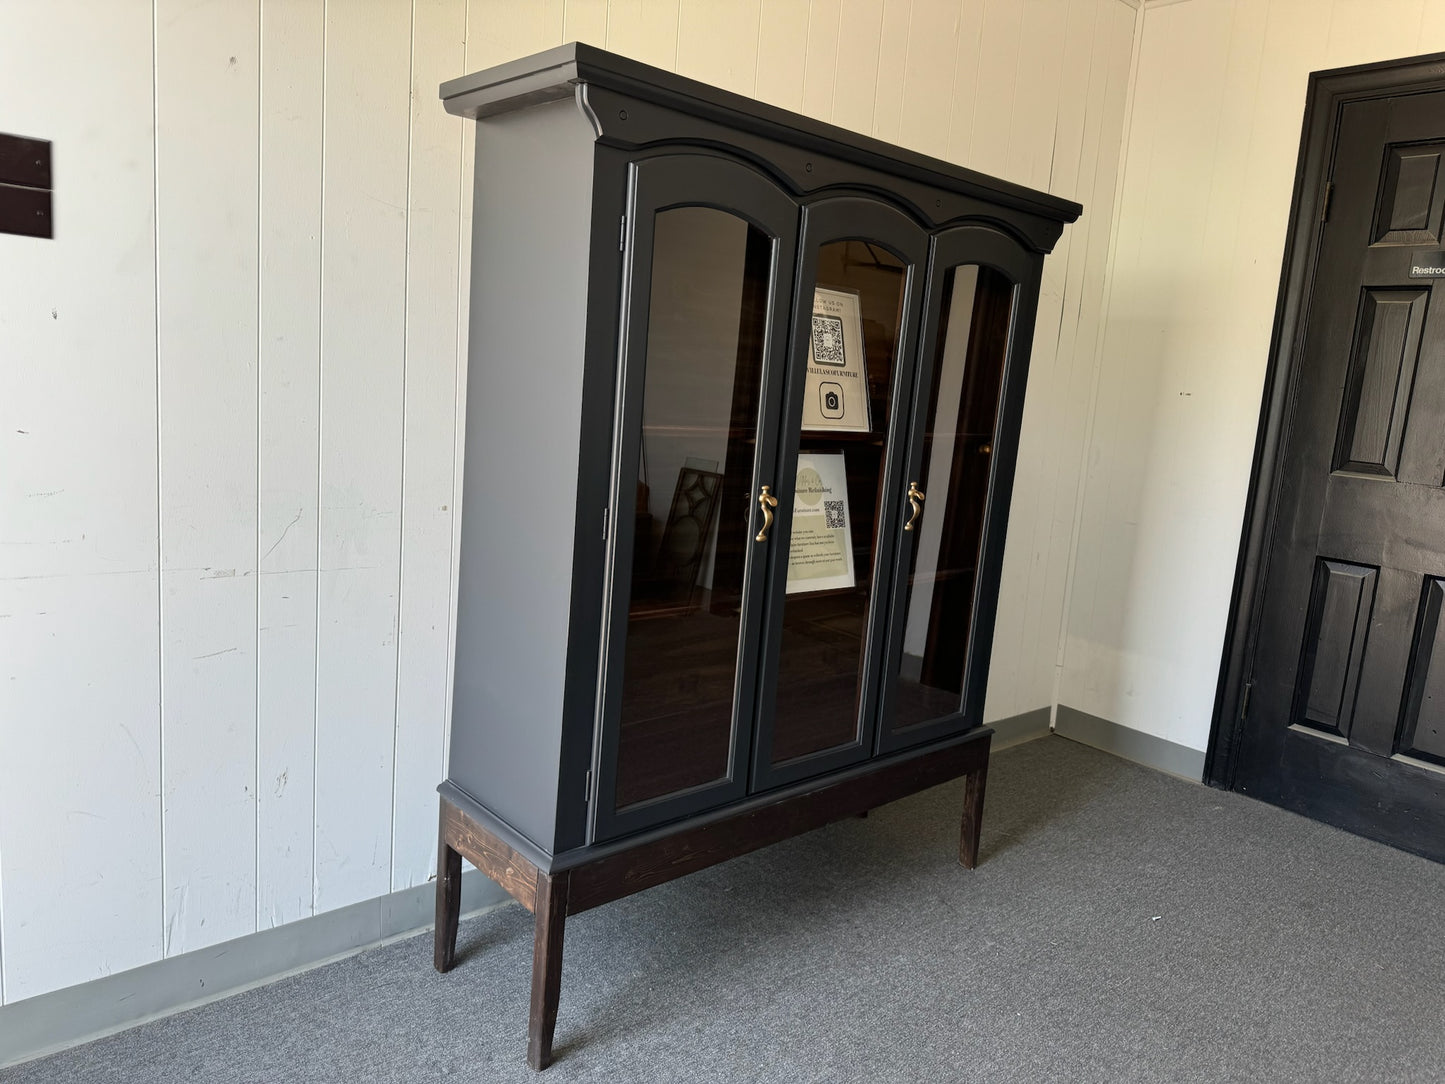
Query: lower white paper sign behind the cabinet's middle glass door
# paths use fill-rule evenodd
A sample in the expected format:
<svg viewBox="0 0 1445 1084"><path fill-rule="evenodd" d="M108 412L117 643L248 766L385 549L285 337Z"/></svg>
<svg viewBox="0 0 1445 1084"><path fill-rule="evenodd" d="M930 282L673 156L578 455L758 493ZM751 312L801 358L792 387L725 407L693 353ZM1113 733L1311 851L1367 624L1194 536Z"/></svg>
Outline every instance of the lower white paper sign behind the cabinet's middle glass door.
<svg viewBox="0 0 1445 1084"><path fill-rule="evenodd" d="M842 452L799 455L788 594L854 587L848 471Z"/></svg>

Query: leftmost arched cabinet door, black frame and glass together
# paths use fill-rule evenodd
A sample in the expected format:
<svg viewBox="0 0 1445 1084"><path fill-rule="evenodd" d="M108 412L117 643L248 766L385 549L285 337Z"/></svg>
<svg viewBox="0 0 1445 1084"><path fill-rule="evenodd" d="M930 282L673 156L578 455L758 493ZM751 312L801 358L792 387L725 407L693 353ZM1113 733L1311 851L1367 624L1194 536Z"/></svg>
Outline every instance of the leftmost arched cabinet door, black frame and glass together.
<svg viewBox="0 0 1445 1084"><path fill-rule="evenodd" d="M798 210L709 155L634 166L595 837L741 796Z"/></svg>

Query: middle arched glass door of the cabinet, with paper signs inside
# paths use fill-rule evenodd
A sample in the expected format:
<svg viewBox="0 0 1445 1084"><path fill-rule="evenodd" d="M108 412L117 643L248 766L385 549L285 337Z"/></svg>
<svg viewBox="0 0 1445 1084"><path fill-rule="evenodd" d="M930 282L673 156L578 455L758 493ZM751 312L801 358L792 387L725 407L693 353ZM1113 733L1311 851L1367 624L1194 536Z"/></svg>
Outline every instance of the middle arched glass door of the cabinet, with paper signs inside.
<svg viewBox="0 0 1445 1084"><path fill-rule="evenodd" d="M805 210L753 786L873 749L880 616L926 234L842 197Z"/></svg>

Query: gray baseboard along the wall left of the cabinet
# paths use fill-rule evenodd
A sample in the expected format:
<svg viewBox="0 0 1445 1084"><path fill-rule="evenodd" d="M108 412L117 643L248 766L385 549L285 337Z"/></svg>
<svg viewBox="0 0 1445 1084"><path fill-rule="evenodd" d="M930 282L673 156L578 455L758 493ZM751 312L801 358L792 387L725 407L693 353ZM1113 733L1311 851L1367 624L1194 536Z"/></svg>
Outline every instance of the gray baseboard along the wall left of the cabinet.
<svg viewBox="0 0 1445 1084"><path fill-rule="evenodd" d="M432 924L435 900L434 883L418 885L14 1002L0 1007L0 1068L416 934ZM506 900L481 873L462 874L462 913Z"/></svg>

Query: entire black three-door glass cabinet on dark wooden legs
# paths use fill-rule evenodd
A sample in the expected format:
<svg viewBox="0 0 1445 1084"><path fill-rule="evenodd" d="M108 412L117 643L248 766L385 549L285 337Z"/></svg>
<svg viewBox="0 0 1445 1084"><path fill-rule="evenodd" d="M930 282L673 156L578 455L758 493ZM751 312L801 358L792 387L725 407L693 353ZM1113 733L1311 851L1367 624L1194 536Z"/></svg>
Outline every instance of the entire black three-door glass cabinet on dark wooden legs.
<svg viewBox="0 0 1445 1084"><path fill-rule="evenodd" d="M1043 254L1078 204L566 45L477 123L461 857L565 916L967 776Z"/></svg>

